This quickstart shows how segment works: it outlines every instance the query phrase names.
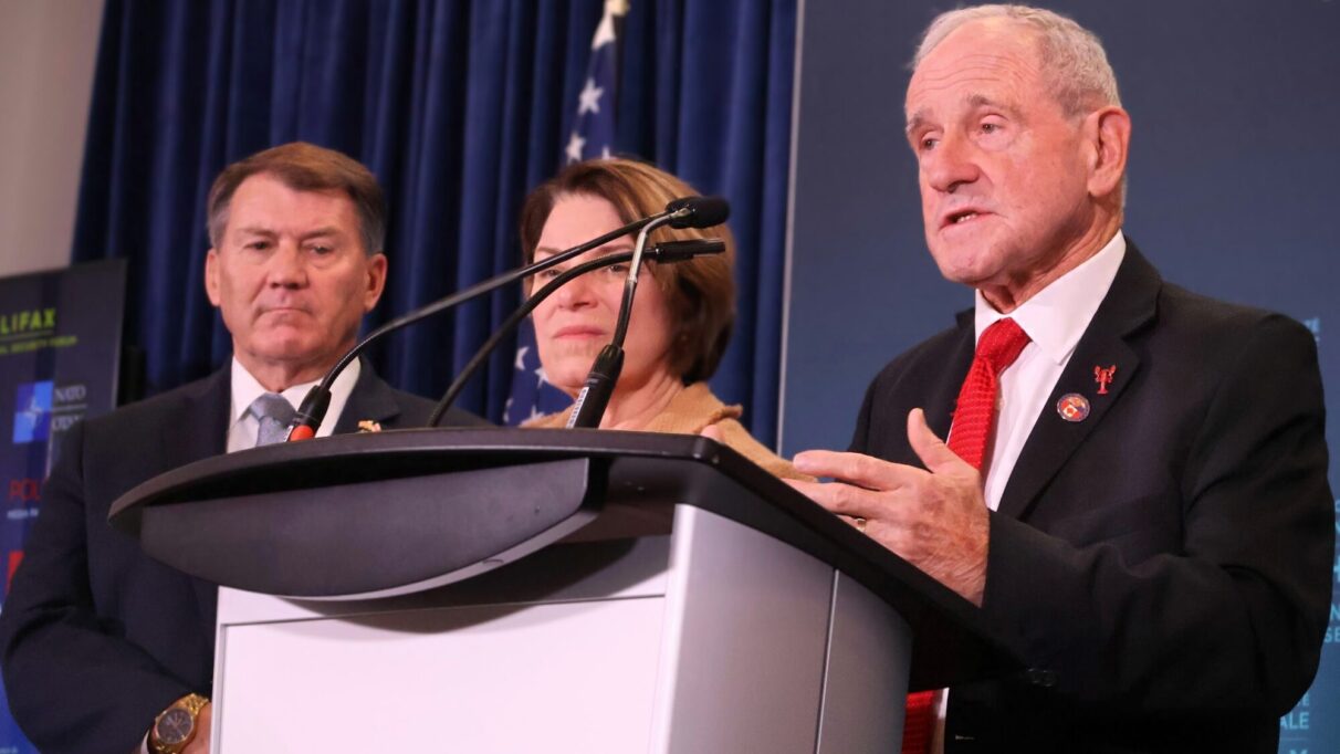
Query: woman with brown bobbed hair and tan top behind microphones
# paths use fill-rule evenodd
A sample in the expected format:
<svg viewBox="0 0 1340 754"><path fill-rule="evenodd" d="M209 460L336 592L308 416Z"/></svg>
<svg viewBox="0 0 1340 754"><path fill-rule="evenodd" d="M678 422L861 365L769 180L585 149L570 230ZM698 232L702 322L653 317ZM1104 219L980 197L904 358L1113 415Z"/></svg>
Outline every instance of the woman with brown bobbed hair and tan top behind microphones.
<svg viewBox="0 0 1340 754"><path fill-rule="evenodd" d="M594 159L565 167L527 197L521 208L525 261L543 260L588 238L661 212L667 202L697 196L687 183L630 159ZM600 422L602 429L706 434L779 477L803 477L740 425L741 408L726 406L708 387L730 340L736 289L734 238L725 226L706 232L662 226L650 242L720 237L722 254L677 264L646 262L641 275L623 372ZM599 256L627 252L632 236L551 268L529 283L535 289L565 269ZM615 328L626 265L579 276L536 307L535 333L545 379L570 395ZM654 284L647 284L654 283ZM567 412L535 419L528 427L561 427Z"/></svg>

